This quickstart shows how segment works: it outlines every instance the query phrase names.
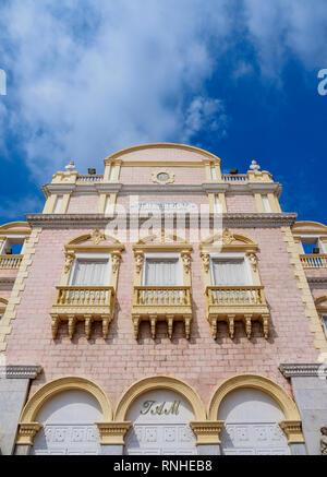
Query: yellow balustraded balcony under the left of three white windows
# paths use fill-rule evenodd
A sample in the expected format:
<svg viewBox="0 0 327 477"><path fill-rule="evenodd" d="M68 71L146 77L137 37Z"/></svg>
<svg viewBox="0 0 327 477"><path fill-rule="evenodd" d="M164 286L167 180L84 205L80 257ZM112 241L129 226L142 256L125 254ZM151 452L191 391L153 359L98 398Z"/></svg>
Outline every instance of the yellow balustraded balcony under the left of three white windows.
<svg viewBox="0 0 327 477"><path fill-rule="evenodd" d="M51 329L53 339L61 322L68 322L69 336L72 339L78 321L85 323L86 338L89 339L92 323L102 323L102 336L106 339L114 311L114 289L105 286L58 286L55 305L51 309Z"/></svg>

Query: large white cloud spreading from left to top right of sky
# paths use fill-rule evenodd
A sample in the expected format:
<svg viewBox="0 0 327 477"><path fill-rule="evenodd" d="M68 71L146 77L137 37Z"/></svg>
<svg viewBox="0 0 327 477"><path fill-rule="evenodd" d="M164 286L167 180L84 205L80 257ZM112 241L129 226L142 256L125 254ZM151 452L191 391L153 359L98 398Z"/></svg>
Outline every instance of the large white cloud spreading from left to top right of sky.
<svg viewBox="0 0 327 477"><path fill-rule="evenodd" d="M100 159L129 145L192 142L203 128L218 139L228 110L205 86L234 36L250 39L265 75L278 77L290 51L323 68L326 15L320 0L314 8L305 0L12 0L0 16L12 82L2 124L5 114L39 181L72 158L81 171L101 170ZM241 59L221 74L251 72ZM1 134L5 127L0 144Z"/></svg>

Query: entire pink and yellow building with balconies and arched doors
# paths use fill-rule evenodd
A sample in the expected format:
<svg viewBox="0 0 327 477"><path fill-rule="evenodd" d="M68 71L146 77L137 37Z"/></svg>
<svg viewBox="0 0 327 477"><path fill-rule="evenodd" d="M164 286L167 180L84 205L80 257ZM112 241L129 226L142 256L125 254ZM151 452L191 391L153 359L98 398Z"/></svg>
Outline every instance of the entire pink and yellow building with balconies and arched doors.
<svg viewBox="0 0 327 477"><path fill-rule="evenodd" d="M149 144L43 191L0 227L2 454L322 452L327 227L268 171Z"/></svg>

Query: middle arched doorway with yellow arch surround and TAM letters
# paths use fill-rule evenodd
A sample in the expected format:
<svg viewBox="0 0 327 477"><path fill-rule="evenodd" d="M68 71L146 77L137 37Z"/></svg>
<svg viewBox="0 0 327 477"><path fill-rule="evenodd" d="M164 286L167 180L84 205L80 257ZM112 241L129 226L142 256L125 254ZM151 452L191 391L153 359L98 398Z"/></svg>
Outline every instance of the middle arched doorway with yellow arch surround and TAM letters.
<svg viewBox="0 0 327 477"><path fill-rule="evenodd" d="M206 420L206 412L189 384L156 375L126 390L117 406L114 420L132 422L124 439L128 455L192 455L197 451L190 421Z"/></svg>

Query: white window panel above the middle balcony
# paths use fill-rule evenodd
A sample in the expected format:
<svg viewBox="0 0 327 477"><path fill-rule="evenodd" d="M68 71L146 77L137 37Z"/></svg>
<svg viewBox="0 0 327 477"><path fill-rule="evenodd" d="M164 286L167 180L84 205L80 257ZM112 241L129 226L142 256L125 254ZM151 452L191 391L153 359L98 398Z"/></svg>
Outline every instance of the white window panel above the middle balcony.
<svg viewBox="0 0 327 477"><path fill-rule="evenodd" d="M175 286L178 285L178 260L146 259L146 286Z"/></svg>

